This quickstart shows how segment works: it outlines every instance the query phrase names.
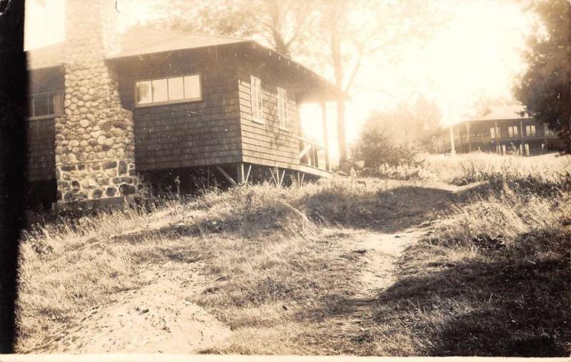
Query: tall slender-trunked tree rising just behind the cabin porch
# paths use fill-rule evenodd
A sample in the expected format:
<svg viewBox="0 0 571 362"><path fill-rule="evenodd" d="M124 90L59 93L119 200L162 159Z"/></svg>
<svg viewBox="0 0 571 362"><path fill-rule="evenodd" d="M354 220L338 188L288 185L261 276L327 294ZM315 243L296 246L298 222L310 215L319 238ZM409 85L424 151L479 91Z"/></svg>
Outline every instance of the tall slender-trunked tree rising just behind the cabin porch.
<svg viewBox="0 0 571 362"><path fill-rule="evenodd" d="M348 160L345 138L345 95L350 94L363 63L370 57L397 46L405 38L424 38L430 29L443 24L433 16L428 1L395 2L323 0L321 29L327 36L337 99L337 134L340 168Z"/></svg>

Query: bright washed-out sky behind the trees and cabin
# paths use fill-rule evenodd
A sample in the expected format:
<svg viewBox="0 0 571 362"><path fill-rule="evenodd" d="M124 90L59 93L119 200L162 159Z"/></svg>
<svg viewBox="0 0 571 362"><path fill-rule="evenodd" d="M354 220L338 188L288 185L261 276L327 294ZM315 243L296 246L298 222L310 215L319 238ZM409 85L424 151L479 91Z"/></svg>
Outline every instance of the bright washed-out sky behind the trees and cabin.
<svg viewBox="0 0 571 362"><path fill-rule="evenodd" d="M364 64L347 105L349 143L358 138L370 113L390 110L418 95L440 105L443 125L465 119L477 98L512 99L515 79L525 69L521 51L535 20L522 11L522 2L425 1L438 1L450 19L423 44L400 47L398 61L370 58ZM151 6L143 0L119 0L118 9L123 29L153 19ZM63 15L64 0L26 0L26 48L64 41ZM304 114L320 120L316 107L305 108ZM328 106L328 114L333 143L333 105ZM320 122L313 124L318 127Z"/></svg>

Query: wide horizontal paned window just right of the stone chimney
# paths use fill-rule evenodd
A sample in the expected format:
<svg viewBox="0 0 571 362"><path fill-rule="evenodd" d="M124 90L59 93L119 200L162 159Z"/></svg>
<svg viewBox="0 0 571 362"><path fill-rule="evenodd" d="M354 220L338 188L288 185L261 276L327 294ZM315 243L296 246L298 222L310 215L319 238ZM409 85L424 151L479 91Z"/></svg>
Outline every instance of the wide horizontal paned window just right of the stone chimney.
<svg viewBox="0 0 571 362"><path fill-rule="evenodd" d="M200 74L136 83L136 105L193 100L202 100Z"/></svg>

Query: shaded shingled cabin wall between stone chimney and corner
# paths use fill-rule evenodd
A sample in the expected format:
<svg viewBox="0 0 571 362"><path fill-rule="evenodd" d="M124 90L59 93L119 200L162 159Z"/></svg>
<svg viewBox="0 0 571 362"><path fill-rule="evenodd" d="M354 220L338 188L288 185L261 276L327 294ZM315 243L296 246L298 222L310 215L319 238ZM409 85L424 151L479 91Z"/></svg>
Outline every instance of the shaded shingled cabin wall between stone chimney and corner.
<svg viewBox="0 0 571 362"><path fill-rule="evenodd" d="M233 58L216 50L123 61L123 104L133 110L138 171L241 161L240 107ZM135 83L200 73L202 100L135 107Z"/></svg>

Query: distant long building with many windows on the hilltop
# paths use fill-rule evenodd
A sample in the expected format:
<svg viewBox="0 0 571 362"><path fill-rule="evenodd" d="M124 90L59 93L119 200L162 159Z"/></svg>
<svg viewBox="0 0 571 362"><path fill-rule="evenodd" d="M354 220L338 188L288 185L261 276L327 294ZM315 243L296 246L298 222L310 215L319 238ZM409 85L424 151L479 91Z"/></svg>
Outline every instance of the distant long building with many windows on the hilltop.
<svg viewBox="0 0 571 362"><path fill-rule="evenodd" d="M530 156L560 150L562 141L557 133L547 124L521 116L523 109L522 105L495 107L483 117L453 125L455 152ZM443 128L433 136L433 150L437 153L452 150L450 128Z"/></svg>

